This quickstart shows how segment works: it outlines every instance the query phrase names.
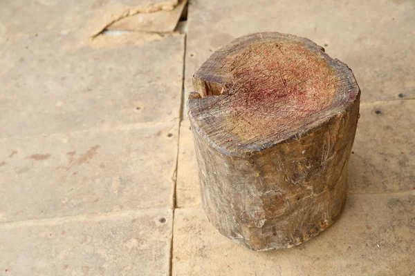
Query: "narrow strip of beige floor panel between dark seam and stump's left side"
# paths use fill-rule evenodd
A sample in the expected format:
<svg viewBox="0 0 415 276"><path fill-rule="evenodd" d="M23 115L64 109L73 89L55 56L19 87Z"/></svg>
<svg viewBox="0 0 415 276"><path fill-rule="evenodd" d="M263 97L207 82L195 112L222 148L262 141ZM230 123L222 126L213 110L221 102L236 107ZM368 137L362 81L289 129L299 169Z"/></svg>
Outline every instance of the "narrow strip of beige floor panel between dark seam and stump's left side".
<svg viewBox="0 0 415 276"><path fill-rule="evenodd" d="M180 125L178 145L176 207L194 206L200 203L200 185L196 155L190 122L185 120Z"/></svg>

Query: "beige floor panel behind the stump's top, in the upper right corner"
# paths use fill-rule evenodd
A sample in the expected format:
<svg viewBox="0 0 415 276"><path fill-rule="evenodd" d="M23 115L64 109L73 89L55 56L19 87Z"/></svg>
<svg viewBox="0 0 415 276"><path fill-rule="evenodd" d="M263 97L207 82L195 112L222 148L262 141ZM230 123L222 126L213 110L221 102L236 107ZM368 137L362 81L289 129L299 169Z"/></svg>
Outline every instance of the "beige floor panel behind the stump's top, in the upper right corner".
<svg viewBox="0 0 415 276"><path fill-rule="evenodd" d="M307 37L352 68L362 101L415 97L415 2L193 0L189 6L186 92L217 48L252 32ZM396 42L393 42L396 41Z"/></svg>

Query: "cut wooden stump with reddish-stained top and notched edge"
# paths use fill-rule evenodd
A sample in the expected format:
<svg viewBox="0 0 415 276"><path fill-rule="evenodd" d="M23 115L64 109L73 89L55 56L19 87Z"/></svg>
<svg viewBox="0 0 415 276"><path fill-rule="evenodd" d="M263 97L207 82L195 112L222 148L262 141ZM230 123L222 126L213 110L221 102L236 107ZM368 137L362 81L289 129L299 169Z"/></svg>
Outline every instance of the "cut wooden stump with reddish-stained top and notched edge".
<svg viewBox="0 0 415 276"><path fill-rule="evenodd" d="M214 52L193 86L202 206L220 233L270 250L333 224L359 116L346 64L308 39L263 32Z"/></svg>

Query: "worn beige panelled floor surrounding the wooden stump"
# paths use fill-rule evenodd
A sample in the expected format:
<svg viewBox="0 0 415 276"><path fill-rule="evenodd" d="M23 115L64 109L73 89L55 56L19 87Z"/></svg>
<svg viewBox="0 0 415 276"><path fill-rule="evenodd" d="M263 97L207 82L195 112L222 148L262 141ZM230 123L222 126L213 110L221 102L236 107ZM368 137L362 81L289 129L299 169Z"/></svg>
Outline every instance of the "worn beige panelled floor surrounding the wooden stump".
<svg viewBox="0 0 415 276"><path fill-rule="evenodd" d="M0 275L414 275L415 2L191 0L164 32L176 4L0 3ZM100 33L121 19L137 32ZM203 215L183 95L268 30L347 63L362 103L343 215L257 253Z"/></svg>

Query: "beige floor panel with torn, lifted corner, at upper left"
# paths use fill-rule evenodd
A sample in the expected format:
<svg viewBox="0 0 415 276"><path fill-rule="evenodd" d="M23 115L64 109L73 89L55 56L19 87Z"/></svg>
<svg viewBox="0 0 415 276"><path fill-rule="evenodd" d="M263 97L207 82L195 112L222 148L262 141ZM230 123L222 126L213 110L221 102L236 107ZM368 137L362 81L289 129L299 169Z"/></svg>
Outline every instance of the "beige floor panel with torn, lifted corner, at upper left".
<svg viewBox="0 0 415 276"><path fill-rule="evenodd" d="M0 137L178 119L183 35L89 33L114 5L149 12L176 2L1 3Z"/></svg>

